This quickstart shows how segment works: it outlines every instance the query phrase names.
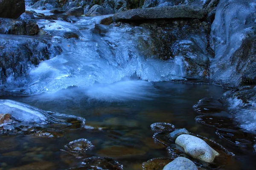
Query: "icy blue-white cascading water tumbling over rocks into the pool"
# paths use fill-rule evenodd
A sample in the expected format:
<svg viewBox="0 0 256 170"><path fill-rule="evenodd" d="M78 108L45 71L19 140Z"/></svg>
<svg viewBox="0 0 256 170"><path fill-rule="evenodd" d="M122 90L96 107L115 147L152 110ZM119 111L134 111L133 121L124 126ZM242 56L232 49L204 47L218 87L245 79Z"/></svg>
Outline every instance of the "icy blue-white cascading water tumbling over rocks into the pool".
<svg viewBox="0 0 256 170"><path fill-rule="evenodd" d="M49 13L46 10L44 14ZM147 30L128 24L98 25L101 19L87 17L76 23L37 20L39 27L53 36L51 43L60 45L63 51L30 69L21 87L23 94L55 92L70 86L87 88L95 82L110 84L133 74L154 82L183 79L181 60L146 58L138 50L138 39L147 38ZM62 35L66 32L78 34L79 39L64 39Z"/></svg>

